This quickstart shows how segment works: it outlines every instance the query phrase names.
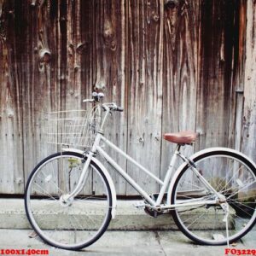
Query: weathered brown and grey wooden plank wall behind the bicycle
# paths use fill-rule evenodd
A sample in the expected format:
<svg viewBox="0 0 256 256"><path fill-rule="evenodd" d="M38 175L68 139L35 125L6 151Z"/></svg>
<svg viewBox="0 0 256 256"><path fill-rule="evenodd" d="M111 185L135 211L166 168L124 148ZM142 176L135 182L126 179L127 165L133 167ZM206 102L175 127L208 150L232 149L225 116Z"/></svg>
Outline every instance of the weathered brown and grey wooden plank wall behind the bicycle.
<svg viewBox="0 0 256 256"><path fill-rule="evenodd" d="M108 137L158 177L168 131L199 132L188 153L228 146L256 160L255 14L253 0L0 0L0 193L22 194L49 153L44 113L83 108L94 86L125 107ZM119 195L136 194L111 173Z"/></svg>

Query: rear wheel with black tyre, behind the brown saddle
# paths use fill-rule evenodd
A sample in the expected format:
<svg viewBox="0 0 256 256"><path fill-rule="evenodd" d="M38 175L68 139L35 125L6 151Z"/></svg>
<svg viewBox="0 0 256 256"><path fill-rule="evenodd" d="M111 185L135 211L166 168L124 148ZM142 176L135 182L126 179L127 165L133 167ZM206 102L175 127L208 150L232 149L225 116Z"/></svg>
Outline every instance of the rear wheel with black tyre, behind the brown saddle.
<svg viewBox="0 0 256 256"><path fill-rule="evenodd" d="M256 222L256 170L253 163L234 150L209 150L194 159L201 176L219 193L224 195L227 216L218 204L177 207L173 218L191 240L207 245L227 243L228 224L229 241L233 242L245 236ZM214 198L211 192L196 177L188 165L179 173L173 189L172 204L209 201ZM224 205L222 205L224 206Z"/></svg>

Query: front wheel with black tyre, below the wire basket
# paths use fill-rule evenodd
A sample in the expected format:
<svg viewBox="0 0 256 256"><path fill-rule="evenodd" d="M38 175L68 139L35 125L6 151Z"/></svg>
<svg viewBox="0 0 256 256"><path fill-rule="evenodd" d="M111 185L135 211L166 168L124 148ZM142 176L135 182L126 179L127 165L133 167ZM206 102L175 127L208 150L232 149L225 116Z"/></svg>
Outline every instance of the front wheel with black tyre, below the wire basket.
<svg viewBox="0 0 256 256"><path fill-rule="evenodd" d="M111 189L92 161L79 195L71 201L63 200L78 183L84 160L82 154L73 152L52 154L28 178L26 216L38 236L54 247L88 247L102 236L111 220Z"/></svg>

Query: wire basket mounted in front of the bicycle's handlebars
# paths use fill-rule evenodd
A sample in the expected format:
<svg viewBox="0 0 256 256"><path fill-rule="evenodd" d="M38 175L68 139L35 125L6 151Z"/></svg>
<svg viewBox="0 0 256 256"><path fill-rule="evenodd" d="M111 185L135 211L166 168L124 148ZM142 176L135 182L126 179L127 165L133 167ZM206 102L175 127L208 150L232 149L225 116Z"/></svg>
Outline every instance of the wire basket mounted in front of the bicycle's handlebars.
<svg viewBox="0 0 256 256"><path fill-rule="evenodd" d="M100 113L92 110L57 111L48 114L47 143L91 148L100 126Z"/></svg>

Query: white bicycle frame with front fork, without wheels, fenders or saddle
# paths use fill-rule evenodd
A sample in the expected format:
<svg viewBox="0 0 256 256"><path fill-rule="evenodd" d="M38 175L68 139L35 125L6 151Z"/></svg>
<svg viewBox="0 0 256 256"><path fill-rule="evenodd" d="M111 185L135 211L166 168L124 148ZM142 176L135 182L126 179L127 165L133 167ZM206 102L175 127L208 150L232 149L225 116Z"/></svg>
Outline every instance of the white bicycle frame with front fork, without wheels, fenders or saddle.
<svg viewBox="0 0 256 256"><path fill-rule="evenodd" d="M102 155L102 157L107 160L107 162L114 167L114 169L119 172L119 174L125 178L125 180L131 184L131 186L137 190L137 192L142 195L142 197L148 202L149 205L148 207L151 207L152 209L158 209L158 210L166 210L166 209L172 209L174 207L189 207L189 206L195 206L195 205L210 205L210 204L216 204L218 202L218 199L220 196L218 195L218 192L212 188L212 186L207 182L207 180L201 176L200 172L198 172L195 168L195 166L191 165L191 162L189 159L187 159L181 152L179 151L179 148L181 147L180 145L177 145L177 149L175 153L172 156L172 160L170 162L170 165L168 167L168 170L166 172L166 177L164 181L160 180L160 178L156 177L153 173L149 172L145 167L141 166L139 163L137 163L136 160L131 158L128 154L125 154L123 150L118 148L116 145L111 143L106 137L103 136L103 127L105 125L106 119L108 118L108 114L110 112L110 108L108 108L107 104L104 104L104 108L106 110L105 116L102 120L102 125L101 129L97 132L95 142L87 156L87 160L85 161L84 164L84 169L83 172L81 173L81 176L79 177L79 183L73 190L73 192L69 195L65 196L65 200L68 200L69 198L73 198L74 196L79 194L79 191L83 188L84 183L86 181L86 171L88 167L90 166L90 161L93 159L93 156L96 153L99 153ZM157 197L157 199L154 201L154 199L148 195L146 191L143 190L142 187L139 186L139 184L136 183L136 181L125 172L125 170L119 166L115 160L111 156L108 155L108 153L100 146L100 143L103 142L108 145L108 147L113 148L114 151L118 152L121 154L123 157L125 157L126 160L130 161L132 164L137 166L141 171L145 172L148 174L148 176L152 177L157 183L160 184L160 193ZM169 204L168 201L166 201L166 204L161 204L163 197L166 193L166 189L170 185L171 177L172 177L172 172L177 160L177 156L181 157L183 161L187 162L189 166L192 168L193 172L195 172L196 177L198 177L201 180L201 183L204 183L206 186L206 189L209 191L212 191L214 195L216 195L215 199L212 200L206 200L202 201L201 199L191 199L190 201L186 200L185 202L179 202L177 204Z"/></svg>

